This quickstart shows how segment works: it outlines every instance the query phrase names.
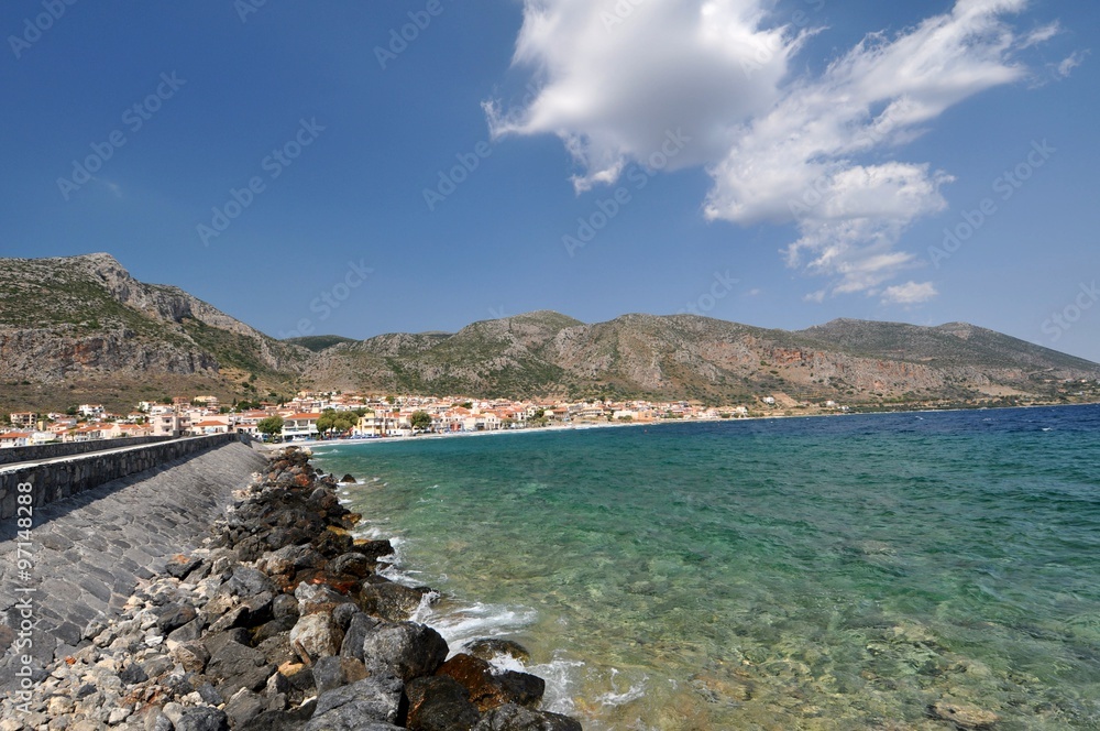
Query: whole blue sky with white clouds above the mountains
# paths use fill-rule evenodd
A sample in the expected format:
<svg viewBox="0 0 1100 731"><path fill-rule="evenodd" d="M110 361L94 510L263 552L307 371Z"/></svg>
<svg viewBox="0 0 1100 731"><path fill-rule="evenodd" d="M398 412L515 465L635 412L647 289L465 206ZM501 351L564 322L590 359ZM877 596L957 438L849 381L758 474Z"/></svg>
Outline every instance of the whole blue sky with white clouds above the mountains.
<svg viewBox="0 0 1100 731"><path fill-rule="evenodd" d="M1100 361L1100 6L10 0L0 255L275 337L969 321Z"/></svg>

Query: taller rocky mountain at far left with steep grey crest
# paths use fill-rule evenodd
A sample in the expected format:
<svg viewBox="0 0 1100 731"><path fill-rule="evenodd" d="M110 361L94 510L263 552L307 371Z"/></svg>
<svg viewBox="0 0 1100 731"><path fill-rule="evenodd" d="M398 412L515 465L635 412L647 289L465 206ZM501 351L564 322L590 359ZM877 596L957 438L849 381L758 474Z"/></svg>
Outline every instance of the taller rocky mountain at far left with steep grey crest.
<svg viewBox="0 0 1100 731"><path fill-rule="evenodd" d="M160 397L184 385L215 395L289 390L310 354L178 287L139 282L106 253L0 259L4 402L20 388L51 394L59 385L73 401Z"/></svg>

